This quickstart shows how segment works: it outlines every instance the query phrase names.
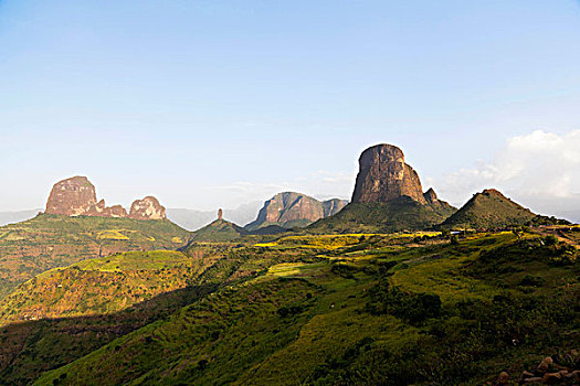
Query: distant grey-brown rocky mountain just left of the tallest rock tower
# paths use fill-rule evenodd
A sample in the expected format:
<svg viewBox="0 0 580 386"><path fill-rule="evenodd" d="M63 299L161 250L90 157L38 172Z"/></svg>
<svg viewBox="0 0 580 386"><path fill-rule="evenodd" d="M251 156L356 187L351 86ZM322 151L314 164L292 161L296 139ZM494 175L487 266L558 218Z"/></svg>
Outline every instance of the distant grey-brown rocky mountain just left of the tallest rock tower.
<svg viewBox="0 0 580 386"><path fill-rule="evenodd" d="M314 197L295 192L278 193L264 203L257 218L247 224L247 230L270 225L284 228L304 227L313 222L338 213L346 201L333 199L320 202Z"/></svg>

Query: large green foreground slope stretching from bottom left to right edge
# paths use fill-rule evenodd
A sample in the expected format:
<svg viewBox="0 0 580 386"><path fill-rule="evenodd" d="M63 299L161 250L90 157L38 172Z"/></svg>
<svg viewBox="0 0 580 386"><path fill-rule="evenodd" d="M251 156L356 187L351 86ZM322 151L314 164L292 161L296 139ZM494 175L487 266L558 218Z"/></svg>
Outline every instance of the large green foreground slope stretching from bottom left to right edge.
<svg viewBox="0 0 580 386"><path fill-rule="evenodd" d="M509 233L242 248L234 272L267 271L38 384L481 384L579 344L579 268L558 248Z"/></svg>

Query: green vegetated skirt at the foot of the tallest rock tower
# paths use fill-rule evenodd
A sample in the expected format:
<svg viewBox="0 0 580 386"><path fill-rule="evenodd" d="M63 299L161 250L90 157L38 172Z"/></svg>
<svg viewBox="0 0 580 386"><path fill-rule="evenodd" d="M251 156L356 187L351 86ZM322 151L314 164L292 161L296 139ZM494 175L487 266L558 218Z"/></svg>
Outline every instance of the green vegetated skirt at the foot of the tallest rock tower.
<svg viewBox="0 0 580 386"><path fill-rule="evenodd" d="M308 226L307 232L389 233L404 229L428 229L441 224L455 212L451 206L420 204L402 196L386 203L350 203L336 215Z"/></svg>

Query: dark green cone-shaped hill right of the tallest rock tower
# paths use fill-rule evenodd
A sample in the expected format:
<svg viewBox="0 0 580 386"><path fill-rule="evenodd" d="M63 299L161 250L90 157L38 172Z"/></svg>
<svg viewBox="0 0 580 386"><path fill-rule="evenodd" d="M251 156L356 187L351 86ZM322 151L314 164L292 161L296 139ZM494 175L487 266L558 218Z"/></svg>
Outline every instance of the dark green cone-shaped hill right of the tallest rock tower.
<svg viewBox="0 0 580 386"><path fill-rule="evenodd" d="M528 208L504 196L495 189L476 193L456 213L445 219L443 228L497 228L524 225L537 217Z"/></svg>

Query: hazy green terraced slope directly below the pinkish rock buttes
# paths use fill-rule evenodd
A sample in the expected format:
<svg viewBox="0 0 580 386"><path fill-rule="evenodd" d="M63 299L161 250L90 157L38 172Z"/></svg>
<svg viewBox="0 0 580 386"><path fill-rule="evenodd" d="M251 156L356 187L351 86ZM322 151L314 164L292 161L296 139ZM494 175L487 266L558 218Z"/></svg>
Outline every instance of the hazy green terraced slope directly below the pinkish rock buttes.
<svg viewBox="0 0 580 386"><path fill-rule="evenodd" d="M0 227L0 299L45 270L127 250L176 249L189 232L169 221L39 214Z"/></svg>

